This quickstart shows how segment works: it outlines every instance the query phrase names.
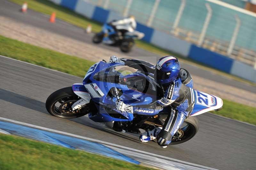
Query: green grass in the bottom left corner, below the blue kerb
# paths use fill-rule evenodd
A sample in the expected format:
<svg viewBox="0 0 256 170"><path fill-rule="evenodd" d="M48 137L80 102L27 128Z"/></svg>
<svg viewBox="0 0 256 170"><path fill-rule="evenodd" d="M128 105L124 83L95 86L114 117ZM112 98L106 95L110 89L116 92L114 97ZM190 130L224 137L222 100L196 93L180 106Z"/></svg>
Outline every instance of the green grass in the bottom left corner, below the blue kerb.
<svg viewBox="0 0 256 170"><path fill-rule="evenodd" d="M152 169L85 151L0 134L0 169Z"/></svg>

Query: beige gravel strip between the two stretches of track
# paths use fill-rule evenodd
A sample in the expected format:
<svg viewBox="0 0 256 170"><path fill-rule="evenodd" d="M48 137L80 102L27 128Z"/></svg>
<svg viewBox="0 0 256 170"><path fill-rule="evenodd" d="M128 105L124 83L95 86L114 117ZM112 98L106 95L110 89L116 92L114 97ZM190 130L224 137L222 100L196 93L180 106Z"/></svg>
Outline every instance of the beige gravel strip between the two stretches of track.
<svg viewBox="0 0 256 170"><path fill-rule="evenodd" d="M111 50L102 49L96 45L94 46L44 29L25 25L2 16L0 16L0 35L95 62L102 59L108 60L113 55ZM115 52L114 55L123 57L124 53ZM215 81L209 81L195 75L193 76L193 80L195 89L237 103L247 104L249 106L256 105L255 93Z"/></svg>

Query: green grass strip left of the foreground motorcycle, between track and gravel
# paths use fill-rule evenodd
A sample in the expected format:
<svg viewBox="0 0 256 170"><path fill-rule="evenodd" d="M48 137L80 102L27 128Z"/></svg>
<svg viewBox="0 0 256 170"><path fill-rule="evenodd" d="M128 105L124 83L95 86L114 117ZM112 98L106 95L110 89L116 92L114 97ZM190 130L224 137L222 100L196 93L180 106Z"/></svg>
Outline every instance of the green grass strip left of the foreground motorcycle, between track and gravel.
<svg viewBox="0 0 256 170"><path fill-rule="evenodd" d="M22 43L1 35L0 54L79 77L84 77L89 67L94 64L92 61Z"/></svg>

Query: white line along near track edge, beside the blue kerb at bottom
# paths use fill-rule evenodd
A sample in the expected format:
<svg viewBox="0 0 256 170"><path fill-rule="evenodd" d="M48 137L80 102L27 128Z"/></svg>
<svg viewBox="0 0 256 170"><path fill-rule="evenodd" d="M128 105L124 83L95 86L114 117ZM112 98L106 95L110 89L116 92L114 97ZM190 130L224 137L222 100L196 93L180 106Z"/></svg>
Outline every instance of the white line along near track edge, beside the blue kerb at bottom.
<svg viewBox="0 0 256 170"><path fill-rule="evenodd" d="M25 125L25 126L32 127L32 128L47 130L49 132L54 132L54 133L59 133L59 134L63 134L63 135L73 136L73 137L76 137L76 138L81 138L81 139L85 139L85 140L93 141L93 142L97 142L97 143L104 143L106 145L115 146L115 147L118 147L118 148L130 150L130 151L134 151L134 152L138 152L138 153L143 153L143 154L151 155L151 156L155 156L155 157L158 157L158 158L163 158L163 159L166 159L166 160L171 160L171 161L178 162L178 163L185 164L185 165L190 165L190 166L195 166L195 167L200 167L200 168L210 169L210 170L216 170L214 168L210 168L210 167L206 167L206 166L201 166L201 165L189 163L189 162L185 162L185 161L182 161L182 160L178 160L178 159L174 159L174 158L169 158L169 157L165 157L165 156L162 156L162 155L157 155L157 154L154 154L154 153L140 151L140 150L137 150L137 149L128 148L128 147L117 145L117 144L114 144L114 143L104 142L104 141L97 140L97 139L92 139L92 138L89 138L89 137L84 137L84 136L75 135L75 134L71 134L71 133L67 133L67 132L62 132L62 131L59 131L59 130L54 130L54 129L50 129L50 128L36 126L36 125L32 125L32 124L29 124L29 123L24 123L24 122L12 120L12 119L7 119L7 118L0 117L0 120L4 120L4 121L8 121L8 122L13 122L13 123L16 123L16 124Z"/></svg>

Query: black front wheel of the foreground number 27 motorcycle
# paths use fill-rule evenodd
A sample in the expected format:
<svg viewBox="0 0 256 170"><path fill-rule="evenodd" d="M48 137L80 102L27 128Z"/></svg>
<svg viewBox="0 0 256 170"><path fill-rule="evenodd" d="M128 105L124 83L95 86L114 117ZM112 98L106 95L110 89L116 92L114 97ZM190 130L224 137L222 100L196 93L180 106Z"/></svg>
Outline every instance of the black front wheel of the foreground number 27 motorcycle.
<svg viewBox="0 0 256 170"><path fill-rule="evenodd" d="M81 109L72 110L78 97L72 90L72 87L66 87L53 92L46 100L46 110L52 115L63 119L78 118L89 113L89 105Z"/></svg>

